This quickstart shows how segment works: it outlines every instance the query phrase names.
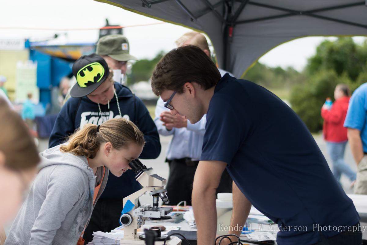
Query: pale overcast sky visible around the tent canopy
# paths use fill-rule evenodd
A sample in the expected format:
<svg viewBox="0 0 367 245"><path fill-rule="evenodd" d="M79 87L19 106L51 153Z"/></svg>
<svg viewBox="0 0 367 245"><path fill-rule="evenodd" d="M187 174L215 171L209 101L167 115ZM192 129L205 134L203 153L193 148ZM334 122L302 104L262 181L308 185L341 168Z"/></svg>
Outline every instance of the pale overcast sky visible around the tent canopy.
<svg viewBox="0 0 367 245"><path fill-rule="evenodd" d="M92 0L0 0L0 9L0 39L45 40L57 33L59 42L94 43L99 33L96 28L104 26L106 18L109 19L110 24L122 26L160 22ZM34 30L33 28L84 30ZM175 48L174 41L188 31L190 31L188 28L164 23L124 28L124 35L130 42L130 53L142 59L153 58L160 50L169 51ZM272 67L293 66L300 71L306 65L307 58L315 54L316 46L324 39L325 37L305 37L281 44L261 57L259 61ZM335 37L328 37L328 39L334 40ZM355 37L354 39L361 43L366 38Z"/></svg>

